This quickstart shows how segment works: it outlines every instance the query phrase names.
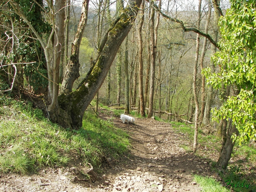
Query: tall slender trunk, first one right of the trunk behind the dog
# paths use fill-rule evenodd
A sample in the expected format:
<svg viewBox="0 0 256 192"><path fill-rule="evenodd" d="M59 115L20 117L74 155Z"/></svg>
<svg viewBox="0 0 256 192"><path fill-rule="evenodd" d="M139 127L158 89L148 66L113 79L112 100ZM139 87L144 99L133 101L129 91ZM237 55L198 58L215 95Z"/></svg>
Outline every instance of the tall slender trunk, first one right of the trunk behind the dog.
<svg viewBox="0 0 256 192"><path fill-rule="evenodd" d="M144 106L144 94L143 94L143 42L142 42L142 26L144 22L144 0L140 5L140 15L141 18L139 20L138 25L138 46L139 46L139 53L138 53L138 61L139 61L139 95L140 95L140 105L139 105L139 112L142 117L145 116L145 106ZM138 17L137 17L138 18Z"/></svg>

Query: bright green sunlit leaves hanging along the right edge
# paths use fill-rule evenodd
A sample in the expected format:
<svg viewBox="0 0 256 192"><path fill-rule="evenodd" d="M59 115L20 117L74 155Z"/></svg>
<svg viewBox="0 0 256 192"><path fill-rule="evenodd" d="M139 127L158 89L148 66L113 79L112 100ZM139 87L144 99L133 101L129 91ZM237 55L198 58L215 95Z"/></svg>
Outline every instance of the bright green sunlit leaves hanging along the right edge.
<svg viewBox="0 0 256 192"><path fill-rule="evenodd" d="M219 72L203 71L215 89L233 85L238 95L229 97L220 109L213 109L214 120L231 118L239 143L256 138L256 10L255 0L232 0L231 7L219 22L221 51L212 56Z"/></svg>

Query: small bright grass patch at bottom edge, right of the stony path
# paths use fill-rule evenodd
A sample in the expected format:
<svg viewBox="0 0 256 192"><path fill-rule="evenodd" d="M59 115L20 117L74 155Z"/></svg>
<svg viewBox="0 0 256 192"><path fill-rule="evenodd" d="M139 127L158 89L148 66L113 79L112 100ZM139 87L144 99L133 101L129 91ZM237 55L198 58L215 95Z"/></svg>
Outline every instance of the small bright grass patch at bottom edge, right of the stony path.
<svg viewBox="0 0 256 192"><path fill-rule="evenodd" d="M195 175L194 180L200 184L205 192L229 192L226 187L223 187L220 182L211 177L203 177Z"/></svg>

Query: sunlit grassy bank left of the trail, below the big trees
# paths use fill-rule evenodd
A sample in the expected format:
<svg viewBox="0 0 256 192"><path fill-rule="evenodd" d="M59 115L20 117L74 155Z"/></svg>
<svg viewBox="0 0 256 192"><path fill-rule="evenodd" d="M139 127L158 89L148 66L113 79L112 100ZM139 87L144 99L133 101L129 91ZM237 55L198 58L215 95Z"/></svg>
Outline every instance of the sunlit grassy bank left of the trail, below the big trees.
<svg viewBox="0 0 256 192"><path fill-rule="evenodd" d="M49 166L67 166L77 156L99 166L105 155L115 158L129 147L127 133L93 111L79 130L51 123L31 103L0 95L0 173L28 173Z"/></svg>

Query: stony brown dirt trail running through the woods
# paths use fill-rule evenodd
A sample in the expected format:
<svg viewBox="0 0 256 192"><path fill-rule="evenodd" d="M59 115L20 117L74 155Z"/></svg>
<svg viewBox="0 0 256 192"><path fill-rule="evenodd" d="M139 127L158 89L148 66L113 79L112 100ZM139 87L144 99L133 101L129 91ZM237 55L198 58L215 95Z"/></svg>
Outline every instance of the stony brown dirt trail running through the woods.
<svg viewBox="0 0 256 192"><path fill-rule="evenodd" d="M178 133L170 124L153 119L136 119L123 124L113 116L100 113L102 119L112 119L117 127L131 136L131 155L103 169L95 182L86 181L74 168L45 169L37 175L0 176L0 192L199 192L192 173L211 175L206 159L198 159L179 147L188 145L185 133Z"/></svg>

